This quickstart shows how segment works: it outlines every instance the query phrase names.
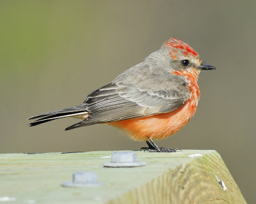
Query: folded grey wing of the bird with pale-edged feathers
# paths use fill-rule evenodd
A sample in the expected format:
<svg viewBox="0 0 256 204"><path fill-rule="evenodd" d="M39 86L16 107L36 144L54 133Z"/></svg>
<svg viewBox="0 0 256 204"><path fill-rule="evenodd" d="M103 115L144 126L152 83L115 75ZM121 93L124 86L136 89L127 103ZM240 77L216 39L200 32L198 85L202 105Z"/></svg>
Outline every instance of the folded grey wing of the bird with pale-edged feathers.
<svg viewBox="0 0 256 204"><path fill-rule="evenodd" d="M90 116L68 129L171 112L184 105L189 95L183 78L161 70L152 75L147 68L136 75L129 69L111 84L89 94L84 103Z"/></svg>

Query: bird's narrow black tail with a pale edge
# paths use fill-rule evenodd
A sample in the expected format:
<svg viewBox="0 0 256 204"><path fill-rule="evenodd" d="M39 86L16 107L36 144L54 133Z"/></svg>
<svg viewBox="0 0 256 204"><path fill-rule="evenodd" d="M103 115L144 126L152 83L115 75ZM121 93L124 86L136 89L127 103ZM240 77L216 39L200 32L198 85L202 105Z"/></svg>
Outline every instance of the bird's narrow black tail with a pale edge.
<svg viewBox="0 0 256 204"><path fill-rule="evenodd" d="M28 120L31 119L38 119L35 120L34 122L31 122L29 124L29 126L37 126L38 124L42 124L44 122L49 122L51 120L56 120L56 119L60 119L63 117L71 117L71 116L76 116L76 115L83 115L88 113L86 111L86 104L81 104L78 106L72 106L70 108L64 108L61 110L54 110L51 112L47 112L47 113L42 113L40 115L35 115L33 117L29 117Z"/></svg>

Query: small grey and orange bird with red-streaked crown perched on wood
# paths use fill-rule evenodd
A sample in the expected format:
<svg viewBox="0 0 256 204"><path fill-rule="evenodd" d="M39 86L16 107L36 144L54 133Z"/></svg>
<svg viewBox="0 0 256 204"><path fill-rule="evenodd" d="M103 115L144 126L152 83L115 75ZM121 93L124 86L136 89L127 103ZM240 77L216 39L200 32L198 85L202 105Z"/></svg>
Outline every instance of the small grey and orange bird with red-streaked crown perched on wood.
<svg viewBox="0 0 256 204"><path fill-rule="evenodd" d="M198 75L216 69L205 64L188 44L170 38L143 62L127 69L111 83L87 95L80 105L29 117L29 126L64 117L81 119L65 130L109 124L123 129L134 140L143 140L150 152L175 152L159 147L195 115L200 98Z"/></svg>

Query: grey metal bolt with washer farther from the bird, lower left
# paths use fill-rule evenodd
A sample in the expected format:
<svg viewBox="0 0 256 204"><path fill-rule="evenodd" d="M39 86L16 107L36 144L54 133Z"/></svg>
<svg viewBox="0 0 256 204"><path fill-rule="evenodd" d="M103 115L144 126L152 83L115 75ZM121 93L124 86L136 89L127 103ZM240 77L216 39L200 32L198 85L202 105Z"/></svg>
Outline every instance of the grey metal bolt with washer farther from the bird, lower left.
<svg viewBox="0 0 256 204"><path fill-rule="evenodd" d="M98 182L97 173L92 171L82 171L73 173L72 182L64 182L63 187L96 187L104 183Z"/></svg>

